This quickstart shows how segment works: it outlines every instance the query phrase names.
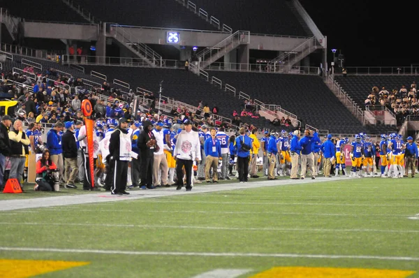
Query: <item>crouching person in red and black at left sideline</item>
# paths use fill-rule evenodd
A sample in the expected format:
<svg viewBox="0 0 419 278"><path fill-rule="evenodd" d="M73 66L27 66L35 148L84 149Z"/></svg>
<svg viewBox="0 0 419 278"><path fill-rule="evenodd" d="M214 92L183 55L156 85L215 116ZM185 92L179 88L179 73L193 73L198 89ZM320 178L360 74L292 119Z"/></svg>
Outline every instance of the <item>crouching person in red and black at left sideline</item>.
<svg viewBox="0 0 419 278"><path fill-rule="evenodd" d="M45 149L42 158L36 163L36 185L35 191L54 191L54 171L57 166L50 159L50 151Z"/></svg>

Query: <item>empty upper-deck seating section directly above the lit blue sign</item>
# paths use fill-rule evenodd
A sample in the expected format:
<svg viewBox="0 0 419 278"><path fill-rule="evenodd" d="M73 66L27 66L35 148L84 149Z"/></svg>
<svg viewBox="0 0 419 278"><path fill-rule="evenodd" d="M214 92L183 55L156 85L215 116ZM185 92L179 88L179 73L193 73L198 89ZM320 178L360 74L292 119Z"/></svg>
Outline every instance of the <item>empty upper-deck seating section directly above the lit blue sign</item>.
<svg viewBox="0 0 419 278"><path fill-rule="evenodd" d="M180 29L199 29L218 31L210 22L194 15L175 0L154 1L108 1L106 4L96 0L73 1L80 8L88 10L102 22L117 22L142 27L166 27Z"/></svg>

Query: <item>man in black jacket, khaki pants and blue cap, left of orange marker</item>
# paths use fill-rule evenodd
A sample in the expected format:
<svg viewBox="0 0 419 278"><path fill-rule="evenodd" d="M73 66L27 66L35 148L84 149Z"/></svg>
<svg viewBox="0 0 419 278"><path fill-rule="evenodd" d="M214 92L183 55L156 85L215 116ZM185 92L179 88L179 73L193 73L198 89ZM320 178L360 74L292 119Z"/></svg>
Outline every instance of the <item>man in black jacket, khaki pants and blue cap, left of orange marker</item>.
<svg viewBox="0 0 419 278"><path fill-rule="evenodd" d="M67 131L66 133L64 133L61 139L64 156L64 180L66 181L64 187L77 189L77 186L75 186L74 181L75 177L78 174L78 148L74 137L73 122L66 122L66 129Z"/></svg>

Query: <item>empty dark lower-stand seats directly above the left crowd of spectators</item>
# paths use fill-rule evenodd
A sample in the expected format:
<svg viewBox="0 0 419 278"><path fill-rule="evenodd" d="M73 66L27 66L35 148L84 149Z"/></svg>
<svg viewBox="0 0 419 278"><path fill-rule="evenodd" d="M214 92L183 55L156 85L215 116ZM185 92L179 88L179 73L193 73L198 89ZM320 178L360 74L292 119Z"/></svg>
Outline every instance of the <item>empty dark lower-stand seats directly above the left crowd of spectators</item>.
<svg viewBox="0 0 419 278"><path fill-rule="evenodd" d="M88 71L98 71L112 80L117 78L128 82L131 88L142 87L154 92L158 96L159 84L163 80L163 96L175 98L190 105L198 105L199 101L207 103L210 108L219 108L219 115L232 118L233 110L240 111L244 108L244 102L233 94L228 94L222 89L211 85L207 80L198 77L194 73L179 69L168 68L132 68L121 66L86 66ZM193 111L195 112L195 111ZM240 117L243 123L253 124L263 129L278 129L267 119Z"/></svg>

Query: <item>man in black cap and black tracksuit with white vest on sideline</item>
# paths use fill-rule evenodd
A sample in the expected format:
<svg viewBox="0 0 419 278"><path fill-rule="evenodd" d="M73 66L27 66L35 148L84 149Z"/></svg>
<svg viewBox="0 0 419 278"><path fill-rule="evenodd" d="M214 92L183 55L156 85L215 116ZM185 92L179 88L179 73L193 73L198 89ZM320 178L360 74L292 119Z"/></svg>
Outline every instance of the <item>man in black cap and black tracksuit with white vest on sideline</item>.
<svg viewBox="0 0 419 278"><path fill-rule="evenodd" d="M128 161L131 159L131 138L128 136L128 122L119 118L119 126L109 140L110 167L113 168L113 182L110 192L116 195L129 195L126 189L128 180Z"/></svg>

